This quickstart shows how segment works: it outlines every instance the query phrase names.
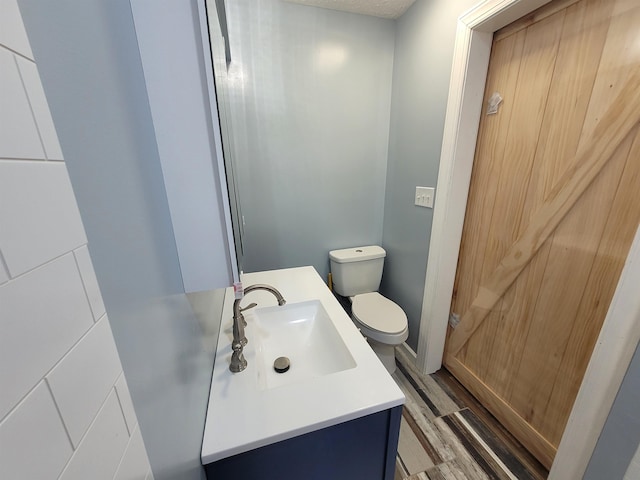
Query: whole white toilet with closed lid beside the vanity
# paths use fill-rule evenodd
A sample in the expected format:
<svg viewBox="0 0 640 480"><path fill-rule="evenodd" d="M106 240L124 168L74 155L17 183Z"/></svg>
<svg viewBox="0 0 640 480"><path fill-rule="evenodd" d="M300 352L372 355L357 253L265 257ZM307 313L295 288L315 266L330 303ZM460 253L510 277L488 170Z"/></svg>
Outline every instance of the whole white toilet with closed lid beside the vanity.
<svg viewBox="0 0 640 480"><path fill-rule="evenodd" d="M329 252L335 292L349 298L351 319L389 373L393 373L395 346L407 339L409 327L404 310L378 293L386 255L376 245Z"/></svg>

